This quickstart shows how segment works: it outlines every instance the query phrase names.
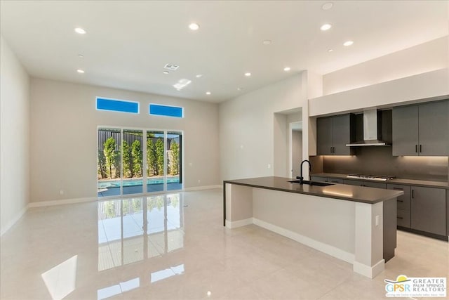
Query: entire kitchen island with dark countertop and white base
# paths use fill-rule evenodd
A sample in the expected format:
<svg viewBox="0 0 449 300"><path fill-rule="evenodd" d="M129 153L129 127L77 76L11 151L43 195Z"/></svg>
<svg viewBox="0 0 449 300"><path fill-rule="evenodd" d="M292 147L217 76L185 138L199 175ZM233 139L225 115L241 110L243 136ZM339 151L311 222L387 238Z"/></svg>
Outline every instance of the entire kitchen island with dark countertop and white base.
<svg viewBox="0 0 449 300"><path fill-rule="evenodd" d="M398 190L290 183L260 177L223 182L224 225L255 224L307 244L374 278L396 248Z"/></svg>

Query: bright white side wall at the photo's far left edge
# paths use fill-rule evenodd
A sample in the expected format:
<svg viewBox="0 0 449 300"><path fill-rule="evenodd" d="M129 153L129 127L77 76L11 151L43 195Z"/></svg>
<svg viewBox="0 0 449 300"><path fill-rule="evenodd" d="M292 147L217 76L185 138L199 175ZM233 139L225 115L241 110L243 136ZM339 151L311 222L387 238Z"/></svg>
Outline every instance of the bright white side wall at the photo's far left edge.
<svg viewBox="0 0 449 300"><path fill-rule="evenodd" d="M0 229L3 235L29 201L29 77L0 37Z"/></svg>

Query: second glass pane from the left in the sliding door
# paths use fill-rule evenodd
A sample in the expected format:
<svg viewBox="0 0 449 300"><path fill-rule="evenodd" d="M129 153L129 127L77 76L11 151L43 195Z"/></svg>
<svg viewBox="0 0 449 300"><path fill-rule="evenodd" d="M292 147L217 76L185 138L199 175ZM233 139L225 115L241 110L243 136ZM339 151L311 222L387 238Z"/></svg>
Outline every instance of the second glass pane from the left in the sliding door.
<svg viewBox="0 0 449 300"><path fill-rule="evenodd" d="M142 130L123 129L123 195L143 193Z"/></svg>

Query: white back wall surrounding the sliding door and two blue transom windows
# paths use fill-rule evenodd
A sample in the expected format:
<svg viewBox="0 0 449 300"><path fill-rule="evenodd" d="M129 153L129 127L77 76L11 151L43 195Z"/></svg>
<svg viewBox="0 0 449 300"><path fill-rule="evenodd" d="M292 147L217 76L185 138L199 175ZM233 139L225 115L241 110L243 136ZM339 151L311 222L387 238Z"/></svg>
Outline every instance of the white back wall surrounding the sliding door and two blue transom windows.
<svg viewBox="0 0 449 300"><path fill-rule="evenodd" d="M96 96L140 101L140 114L95 110ZM149 116L149 103L185 118ZM220 184L217 104L32 78L31 108L31 202L96 197L98 126L184 131L185 188Z"/></svg>

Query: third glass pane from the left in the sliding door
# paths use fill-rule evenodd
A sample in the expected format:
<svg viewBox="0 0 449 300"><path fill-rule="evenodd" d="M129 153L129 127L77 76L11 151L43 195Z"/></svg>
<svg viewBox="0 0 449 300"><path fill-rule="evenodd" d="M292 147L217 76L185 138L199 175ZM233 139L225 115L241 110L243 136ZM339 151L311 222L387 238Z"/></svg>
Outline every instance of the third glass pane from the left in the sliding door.
<svg viewBox="0 0 449 300"><path fill-rule="evenodd" d="M163 131L147 131L147 192L163 191Z"/></svg>

